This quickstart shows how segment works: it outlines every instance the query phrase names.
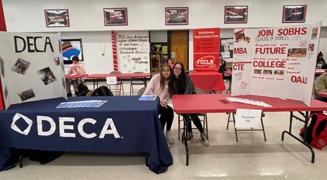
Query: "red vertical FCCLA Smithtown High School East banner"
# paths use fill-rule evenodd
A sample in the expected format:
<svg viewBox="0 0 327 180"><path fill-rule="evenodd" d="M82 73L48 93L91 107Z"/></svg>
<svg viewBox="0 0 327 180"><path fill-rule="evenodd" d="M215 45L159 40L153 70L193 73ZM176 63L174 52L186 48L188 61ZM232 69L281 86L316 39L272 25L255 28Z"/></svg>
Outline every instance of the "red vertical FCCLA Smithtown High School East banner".
<svg viewBox="0 0 327 180"><path fill-rule="evenodd" d="M193 30L193 69L198 72L219 69L220 28Z"/></svg>

